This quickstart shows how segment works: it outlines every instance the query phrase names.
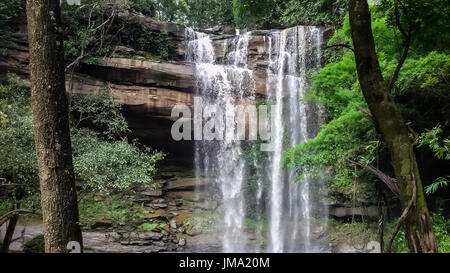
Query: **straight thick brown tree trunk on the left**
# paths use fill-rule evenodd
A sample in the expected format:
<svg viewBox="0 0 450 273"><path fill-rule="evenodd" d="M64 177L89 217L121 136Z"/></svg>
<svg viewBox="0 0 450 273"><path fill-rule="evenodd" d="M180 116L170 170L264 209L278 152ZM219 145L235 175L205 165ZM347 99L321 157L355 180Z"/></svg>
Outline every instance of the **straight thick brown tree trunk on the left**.
<svg viewBox="0 0 450 273"><path fill-rule="evenodd" d="M59 0L27 0L31 105L44 220L45 252L82 245L64 85Z"/></svg>

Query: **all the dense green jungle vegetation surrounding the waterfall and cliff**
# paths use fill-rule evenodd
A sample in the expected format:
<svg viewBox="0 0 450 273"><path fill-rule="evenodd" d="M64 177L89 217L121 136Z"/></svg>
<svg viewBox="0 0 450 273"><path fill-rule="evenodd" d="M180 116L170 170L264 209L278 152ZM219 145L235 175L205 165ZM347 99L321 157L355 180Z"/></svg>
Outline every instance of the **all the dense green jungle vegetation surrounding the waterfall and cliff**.
<svg viewBox="0 0 450 273"><path fill-rule="evenodd" d="M284 167L295 169L299 180L309 175L327 181L331 199L342 199L341 202L352 205L355 202L398 205L395 194L380 180L380 174L393 177L393 168L358 82L347 0L81 2L81 6L62 5L67 72L72 72L80 62L96 63L109 56L179 60L170 34L129 20L135 14L196 29L220 26L258 30L295 25L331 29L333 35L324 48L323 67L309 71L311 88L307 98L323 105L326 123L317 137L285 152ZM433 214L438 248L440 252L450 252L450 1L404 0L407 12L400 15L394 1L374 2L379 2L370 7L379 63L387 82L399 72L391 96L411 130L411 138L418 137L414 151ZM23 0L0 3L0 58L9 54L11 24L17 22L24 8ZM405 29L409 31L408 40ZM135 51L129 52L124 47ZM399 60L402 66L396 71ZM122 105L112 97L108 86L96 96L70 101L70 132L80 191L113 196L132 193L141 184L155 183L158 162L165 155L133 139ZM34 145L29 85L9 73L0 84L0 178L2 182L21 184L22 190L1 189L0 216L18 207L39 210ZM245 156L262 155L250 147ZM255 178L248 180L251 190ZM117 197L111 200L115 202L112 207L124 202ZM96 208L83 201L80 204L83 222L92 221L88 215ZM136 207L129 211L142 213ZM336 237L348 236L350 232L364 236L369 229L375 230L368 235L373 237L377 232L373 223L336 222L330 224L335 227ZM386 224L386 239L394 229L394 222L391 219ZM403 231L396 237L393 250L408 251Z"/></svg>

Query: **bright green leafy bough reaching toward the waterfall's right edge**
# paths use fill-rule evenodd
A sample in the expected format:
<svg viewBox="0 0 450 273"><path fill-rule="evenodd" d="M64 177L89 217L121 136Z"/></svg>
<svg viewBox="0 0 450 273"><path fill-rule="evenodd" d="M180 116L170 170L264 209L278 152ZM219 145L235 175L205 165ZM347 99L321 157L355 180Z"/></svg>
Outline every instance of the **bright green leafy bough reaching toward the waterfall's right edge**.
<svg viewBox="0 0 450 273"><path fill-rule="evenodd" d="M374 160L375 130L359 111L346 114L324 125L317 137L286 152L283 165L295 168L299 180L305 175L331 179L332 186L350 187L354 180L349 160ZM331 171L324 172L324 170Z"/></svg>

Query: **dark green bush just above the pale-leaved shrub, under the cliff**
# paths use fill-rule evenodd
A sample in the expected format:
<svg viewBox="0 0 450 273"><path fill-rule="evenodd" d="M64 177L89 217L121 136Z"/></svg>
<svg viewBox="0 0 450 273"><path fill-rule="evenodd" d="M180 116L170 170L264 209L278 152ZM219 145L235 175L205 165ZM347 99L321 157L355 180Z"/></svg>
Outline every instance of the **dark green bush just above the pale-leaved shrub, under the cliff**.
<svg viewBox="0 0 450 273"><path fill-rule="evenodd" d="M107 140L125 139L130 133L122 107L122 103L113 98L107 88L95 95L75 96L71 102L71 112L77 126L91 125Z"/></svg>

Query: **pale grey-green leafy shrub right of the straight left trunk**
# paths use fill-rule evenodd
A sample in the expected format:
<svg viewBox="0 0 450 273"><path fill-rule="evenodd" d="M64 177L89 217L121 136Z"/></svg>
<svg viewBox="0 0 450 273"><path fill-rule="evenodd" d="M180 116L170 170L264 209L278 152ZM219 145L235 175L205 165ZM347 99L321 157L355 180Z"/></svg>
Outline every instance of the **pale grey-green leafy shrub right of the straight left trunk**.
<svg viewBox="0 0 450 273"><path fill-rule="evenodd" d="M164 155L126 140L107 142L89 130L73 131L74 169L83 186L99 192L128 191L153 181Z"/></svg>

